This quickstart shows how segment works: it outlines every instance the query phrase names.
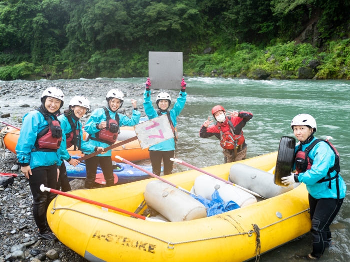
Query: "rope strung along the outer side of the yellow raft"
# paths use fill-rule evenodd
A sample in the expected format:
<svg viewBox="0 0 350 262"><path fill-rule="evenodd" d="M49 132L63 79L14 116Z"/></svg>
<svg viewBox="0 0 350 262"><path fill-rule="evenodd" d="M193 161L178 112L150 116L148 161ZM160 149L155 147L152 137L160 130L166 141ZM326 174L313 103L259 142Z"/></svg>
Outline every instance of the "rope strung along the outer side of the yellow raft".
<svg viewBox="0 0 350 262"><path fill-rule="evenodd" d="M300 212L298 212L298 213L296 213L296 214L294 214L294 215L291 215L291 216L289 216L289 217L287 217L287 218L285 218L285 219L282 219L282 220L280 220L280 221L274 222L274 223L272 223L272 224L270 224L270 225L267 225L267 226L265 226L265 227L262 227L262 228L260 228L260 229L258 228L258 226L256 226L256 225L254 224L254 225L256 226L256 227L254 227L254 225L253 225L253 229L254 229L254 230L249 230L248 232L242 232L242 233L237 233L237 234L232 234L232 235L224 235L224 236L218 236L218 237L212 237L212 238L205 238L205 239L189 240L189 241L183 241L183 242L169 242L169 241L165 241L165 240L159 239L159 238L157 238L157 237L151 236L151 235L149 235L149 234L147 234L147 233L143 233L143 232L141 232L141 231L138 231L138 230L135 230L135 229L132 229L132 228L123 226L123 225L118 224L118 223L116 223L116 222L113 222L113 221L110 221L110 220L107 220L107 219L103 219L103 218L100 218L100 217L97 217L97 216L94 216L94 215L90 215L90 214L84 213L84 212L82 212L82 211L77 211L77 210L74 210L74 209L71 209L71 208L55 208L56 199L57 199L57 198L58 198L58 195L55 197L55 199L54 199L54 201L53 201L53 207L52 207L52 209L51 209L51 214L54 214L56 210L69 210L69 211L73 211L73 212L76 212L76 213L80 213L80 214L83 214L83 215L86 215L86 216L89 216L89 217L92 217L92 218L96 218L96 219L99 219L99 220L102 220L102 221L105 221L105 222L109 222L109 223L111 223L111 224L117 225L117 226L122 227L122 228L125 228L125 229L134 231L134 232L136 232L136 233L142 234L142 235L147 236L147 237L150 237L150 238L152 238L152 239L159 240L159 241L161 241L161 242L163 242L163 243L166 243L168 249L174 249L174 246L175 246L175 245L185 244L185 243L191 243L191 242L199 242L199 241L205 241L205 240L221 239L221 238L234 237L234 236L240 236L240 235L248 235L248 236L250 237L250 236L251 236L251 233L255 232L255 234L256 234L256 244L257 244L257 242L259 243L259 247L257 247L257 245L256 245L256 249L255 249L256 255L259 254L259 255L258 255L258 258L260 257L260 230L265 229L265 228L267 228L267 227L270 227L270 226L272 226L272 225L275 225L275 224L277 224L277 223L280 223L280 222L282 222L282 221L284 221L284 220L287 220L287 219L289 219L289 218L292 218L292 217L294 217L294 216L297 216L297 215L299 215L299 214L301 214L301 213L308 212L308 211L310 210L309 208L307 208L307 209L305 209L305 210L303 210L303 211L300 211ZM223 213L223 214L224 214L224 213ZM223 214L221 214L221 215L223 215ZM258 261L258 260L257 260L257 261ZM257 261L256 261L256 262L257 262Z"/></svg>

